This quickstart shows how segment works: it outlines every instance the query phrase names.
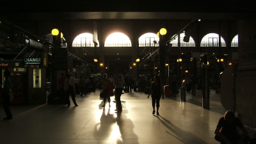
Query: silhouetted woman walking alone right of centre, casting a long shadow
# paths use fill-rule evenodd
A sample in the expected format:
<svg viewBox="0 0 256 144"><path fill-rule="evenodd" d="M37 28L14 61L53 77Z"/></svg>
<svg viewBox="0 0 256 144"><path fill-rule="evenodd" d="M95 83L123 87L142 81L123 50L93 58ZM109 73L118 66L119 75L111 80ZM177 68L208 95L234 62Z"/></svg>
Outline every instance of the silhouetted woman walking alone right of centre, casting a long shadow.
<svg viewBox="0 0 256 144"><path fill-rule="evenodd" d="M152 108L153 108L152 115L154 115L155 113L157 115L159 115L159 107L160 107L159 103L160 103L161 95L162 95L162 98L164 99L164 93L163 93L163 88L162 87L163 86L162 86L160 77L155 76L154 81L151 83L150 90L149 90L149 93L148 93L148 97L150 96L150 94L152 94L151 95Z"/></svg>

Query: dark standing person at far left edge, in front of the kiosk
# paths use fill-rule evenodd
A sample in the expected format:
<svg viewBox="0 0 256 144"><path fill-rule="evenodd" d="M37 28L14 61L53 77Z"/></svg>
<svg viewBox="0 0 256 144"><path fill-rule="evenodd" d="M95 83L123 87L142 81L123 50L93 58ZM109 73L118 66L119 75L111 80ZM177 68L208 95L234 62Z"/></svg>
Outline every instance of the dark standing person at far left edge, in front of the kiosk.
<svg viewBox="0 0 256 144"><path fill-rule="evenodd" d="M10 71L6 70L4 71L4 86L1 90L2 92L2 99L3 99L3 108L4 112L6 113L6 117L4 120L10 120L12 119L12 113L9 108L10 102L13 100L13 94L12 94L12 82L10 79Z"/></svg>

